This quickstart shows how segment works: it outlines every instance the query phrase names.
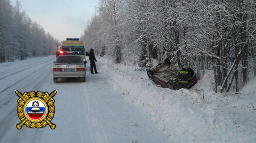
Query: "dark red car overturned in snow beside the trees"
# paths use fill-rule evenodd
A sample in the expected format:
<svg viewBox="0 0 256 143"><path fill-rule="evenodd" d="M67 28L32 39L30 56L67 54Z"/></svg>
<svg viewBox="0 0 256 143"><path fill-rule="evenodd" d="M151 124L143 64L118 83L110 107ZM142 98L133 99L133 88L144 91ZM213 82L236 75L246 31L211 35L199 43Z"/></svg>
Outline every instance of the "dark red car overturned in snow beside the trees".
<svg viewBox="0 0 256 143"><path fill-rule="evenodd" d="M177 76L180 71L180 67L177 67L171 64L169 59L165 59L164 63L158 64L158 66L147 71L147 76L155 84L162 86L163 88L176 89L179 84ZM191 72L191 78L188 79L188 89L197 83L197 77L195 72L188 68L188 71Z"/></svg>

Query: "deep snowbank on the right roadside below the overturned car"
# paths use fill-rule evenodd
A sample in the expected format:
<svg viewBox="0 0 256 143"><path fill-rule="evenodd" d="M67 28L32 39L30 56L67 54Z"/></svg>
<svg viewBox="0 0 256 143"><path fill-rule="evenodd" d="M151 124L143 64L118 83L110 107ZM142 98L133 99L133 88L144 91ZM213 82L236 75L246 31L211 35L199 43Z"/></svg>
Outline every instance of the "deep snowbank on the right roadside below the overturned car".
<svg viewBox="0 0 256 143"><path fill-rule="evenodd" d="M175 91L158 88L133 63L100 60L98 71L127 101L150 114L169 140L256 142L255 77L243 89L246 94L214 93L210 72L192 89Z"/></svg>

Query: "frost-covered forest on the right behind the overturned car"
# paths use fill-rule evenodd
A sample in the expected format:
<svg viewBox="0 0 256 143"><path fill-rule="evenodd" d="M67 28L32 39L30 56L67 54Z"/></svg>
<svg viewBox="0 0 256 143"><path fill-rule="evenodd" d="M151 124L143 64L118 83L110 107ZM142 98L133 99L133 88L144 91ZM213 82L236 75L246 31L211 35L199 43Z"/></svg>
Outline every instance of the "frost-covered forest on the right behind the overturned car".
<svg viewBox="0 0 256 143"><path fill-rule="evenodd" d="M255 12L255 0L100 0L81 39L116 63L211 70L215 92L238 93L256 75Z"/></svg>

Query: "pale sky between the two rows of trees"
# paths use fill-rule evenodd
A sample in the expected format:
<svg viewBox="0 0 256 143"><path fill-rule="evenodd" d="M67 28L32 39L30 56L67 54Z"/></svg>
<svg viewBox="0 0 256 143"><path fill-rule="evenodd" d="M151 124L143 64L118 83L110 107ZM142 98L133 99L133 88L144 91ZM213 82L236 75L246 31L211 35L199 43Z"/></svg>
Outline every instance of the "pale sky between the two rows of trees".
<svg viewBox="0 0 256 143"><path fill-rule="evenodd" d="M97 0L19 0L22 10L59 41L80 38L95 13ZM11 0L15 6L16 0Z"/></svg>

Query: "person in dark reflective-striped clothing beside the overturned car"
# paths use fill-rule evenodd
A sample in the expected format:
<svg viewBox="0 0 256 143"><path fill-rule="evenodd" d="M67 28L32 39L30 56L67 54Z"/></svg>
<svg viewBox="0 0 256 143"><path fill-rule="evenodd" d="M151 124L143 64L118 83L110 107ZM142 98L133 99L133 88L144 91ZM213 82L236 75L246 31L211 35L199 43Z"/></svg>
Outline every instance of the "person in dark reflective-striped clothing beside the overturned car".
<svg viewBox="0 0 256 143"><path fill-rule="evenodd" d="M188 67L184 66L181 68L178 79L179 84L176 87L176 90L179 90L180 88L188 88L188 79L190 79L191 73L188 71Z"/></svg>

